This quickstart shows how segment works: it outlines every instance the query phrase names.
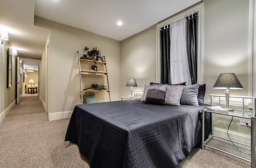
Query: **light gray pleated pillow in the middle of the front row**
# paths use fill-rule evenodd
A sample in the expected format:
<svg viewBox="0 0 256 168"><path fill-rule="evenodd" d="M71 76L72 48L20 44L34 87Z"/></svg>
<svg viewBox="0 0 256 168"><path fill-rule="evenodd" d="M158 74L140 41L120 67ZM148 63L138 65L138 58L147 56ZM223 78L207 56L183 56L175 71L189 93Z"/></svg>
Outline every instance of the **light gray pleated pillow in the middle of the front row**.
<svg viewBox="0 0 256 168"><path fill-rule="evenodd" d="M164 104L180 106L180 98L184 87L183 85L167 85Z"/></svg>

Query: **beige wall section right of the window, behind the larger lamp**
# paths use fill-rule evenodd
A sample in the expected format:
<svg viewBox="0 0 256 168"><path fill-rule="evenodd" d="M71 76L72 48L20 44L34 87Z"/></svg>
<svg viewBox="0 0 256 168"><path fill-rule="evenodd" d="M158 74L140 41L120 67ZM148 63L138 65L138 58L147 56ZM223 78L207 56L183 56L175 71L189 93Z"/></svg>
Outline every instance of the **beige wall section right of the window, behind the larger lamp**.
<svg viewBox="0 0 256 168"><path fill-rule="evenodd" d="M235 73L244 90L230 90L230 95L250 95L249 0L205 0L204 9L204 82L209 94L224 95L212 89L220 73ZM215 116L215 128L227 130L231 118ZM250 134L234 118L229 131Z"/></svg>

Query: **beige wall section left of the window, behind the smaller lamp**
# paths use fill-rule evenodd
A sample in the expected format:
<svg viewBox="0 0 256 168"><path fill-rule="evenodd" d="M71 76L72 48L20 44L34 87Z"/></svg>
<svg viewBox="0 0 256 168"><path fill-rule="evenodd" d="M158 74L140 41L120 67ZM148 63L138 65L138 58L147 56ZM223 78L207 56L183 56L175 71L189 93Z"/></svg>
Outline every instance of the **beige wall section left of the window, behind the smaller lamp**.
<svg viewBox="0 0 256 168"><path fill-rule="evenodd" d="M121 41L120 95L131 95L131 88L125 87L129 78L135 78L138 87L154 82L156 78L156 25Z"/></svg>

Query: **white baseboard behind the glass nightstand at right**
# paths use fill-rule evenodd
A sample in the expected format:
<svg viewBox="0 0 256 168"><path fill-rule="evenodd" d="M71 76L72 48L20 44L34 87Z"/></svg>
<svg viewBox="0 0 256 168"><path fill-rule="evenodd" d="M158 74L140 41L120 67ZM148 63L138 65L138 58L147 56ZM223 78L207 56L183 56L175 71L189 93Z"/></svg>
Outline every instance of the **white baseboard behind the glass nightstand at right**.
<svg viewBox="0 0 256 168"><path fill-rule="evenodd" d="M222 137L225 139L229 139L229 137L227 136L227 130L224 129L218 129L218 128L214 128L214 135L218 136L218 137ZM250 136L248 135L244 135L244 134L239 134L236 132L228 132L230 139L234 142L239 142L245 145L250 145Z"/></svg>

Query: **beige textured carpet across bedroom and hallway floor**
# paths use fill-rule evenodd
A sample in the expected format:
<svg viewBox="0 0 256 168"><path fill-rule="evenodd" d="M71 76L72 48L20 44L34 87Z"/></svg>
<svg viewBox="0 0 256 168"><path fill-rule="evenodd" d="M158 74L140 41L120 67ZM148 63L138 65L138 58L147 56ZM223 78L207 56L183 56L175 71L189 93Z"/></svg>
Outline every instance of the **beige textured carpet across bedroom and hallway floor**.
<svg viewBox="0 0 256 168"><path fill-rule="evenodd" d="M0 123L0 168L90 168L78 147L64 142L68 122L48 121L37 94L25 94ZM250 168L250 163L196 148L177 168Z"/></svg>

